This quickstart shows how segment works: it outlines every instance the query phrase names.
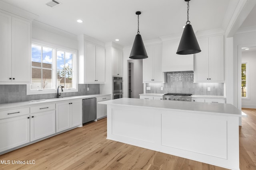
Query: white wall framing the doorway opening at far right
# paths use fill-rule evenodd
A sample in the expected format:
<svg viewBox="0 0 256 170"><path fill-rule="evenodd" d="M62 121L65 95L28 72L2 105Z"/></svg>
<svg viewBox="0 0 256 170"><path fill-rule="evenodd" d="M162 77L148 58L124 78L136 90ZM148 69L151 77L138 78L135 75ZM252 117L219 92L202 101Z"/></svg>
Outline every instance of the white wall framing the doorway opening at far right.
<svg viewBox="0 0 256 170"><path fill-rule="evenodd" d="M242 47L256 46L256 31L238 33L234 35L234 106L242 108L241 99L241 64L242 64Z"/></svg>

